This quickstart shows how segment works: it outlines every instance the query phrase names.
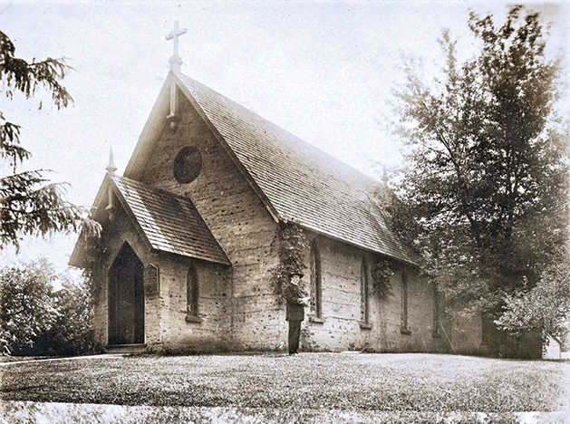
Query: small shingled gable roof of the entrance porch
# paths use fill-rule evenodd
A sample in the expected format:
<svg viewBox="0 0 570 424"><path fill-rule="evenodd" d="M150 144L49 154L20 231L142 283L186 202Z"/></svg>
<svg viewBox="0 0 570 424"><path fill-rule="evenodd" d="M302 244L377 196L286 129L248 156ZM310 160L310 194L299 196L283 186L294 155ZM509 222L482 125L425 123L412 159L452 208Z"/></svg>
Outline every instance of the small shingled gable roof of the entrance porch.
<svg viewBox="0 0 570 424"><path fill-rule="evenodd" d="M104 193L111 188L150 249L231 265L198 210L188 198L151 188L129 178L107 175L95 205L101 206ZM101 207L100 207L101 209ZM81 239L80 239L81 240ZM70 259L81 266L78 242Z"/></svg>

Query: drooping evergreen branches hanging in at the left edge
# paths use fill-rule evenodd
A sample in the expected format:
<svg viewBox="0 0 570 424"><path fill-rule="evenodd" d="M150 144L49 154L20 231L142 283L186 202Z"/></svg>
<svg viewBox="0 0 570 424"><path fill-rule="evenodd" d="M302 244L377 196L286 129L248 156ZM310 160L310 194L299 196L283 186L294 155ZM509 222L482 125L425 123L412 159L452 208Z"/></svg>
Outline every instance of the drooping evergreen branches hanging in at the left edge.
<svg viewBox="0 0 570 424"><path fill-rule="evenodd" d="M14 52L14 43L0 31L0 83L6 97L13 99L14 92L21 92L30 99L43 88L58 109L70 104L72 97L60 83L70 70L63 59L27 63ZM64 200L63 185L50 183L43 176L45 170L16 172L30 156L20 143L20 126L0 111L0 158L10 169L0 178L0 249L8 244L17 248L23 235L45 236L81 227L85 234L98 234L99 226L82 217L81 207Z"/></svg>

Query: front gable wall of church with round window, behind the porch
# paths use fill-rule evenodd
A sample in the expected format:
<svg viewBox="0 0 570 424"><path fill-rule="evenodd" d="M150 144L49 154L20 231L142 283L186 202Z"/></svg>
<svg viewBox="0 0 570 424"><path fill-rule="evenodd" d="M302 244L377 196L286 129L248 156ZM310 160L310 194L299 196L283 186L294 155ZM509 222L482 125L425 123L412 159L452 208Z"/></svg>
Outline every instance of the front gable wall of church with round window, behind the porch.
<svg viewBox="0 0 570 424"><path fill-rule="evenodd" d="M220 300L224 313L216 318L225 349L283 348L285 312L276 302L269 272L276 265L271 249L275 220L206 122L184 96L179 95L179 99L179 128L173 132L165 124L140 180L190 198L232 263L227 291ZM173 161L186 146L199 149L202 169L194 181L180 184L173 177ZM185 294L185 276L177 278L177 290ZM200 298L207 284L207 279L200 279ZM208 310L202 312L203 321L190 324L197 331L214 319L214 315L208 317ZM169 333L174 337L177 330L172 328ZM176 340L193 342L179 336Z"/></svg>

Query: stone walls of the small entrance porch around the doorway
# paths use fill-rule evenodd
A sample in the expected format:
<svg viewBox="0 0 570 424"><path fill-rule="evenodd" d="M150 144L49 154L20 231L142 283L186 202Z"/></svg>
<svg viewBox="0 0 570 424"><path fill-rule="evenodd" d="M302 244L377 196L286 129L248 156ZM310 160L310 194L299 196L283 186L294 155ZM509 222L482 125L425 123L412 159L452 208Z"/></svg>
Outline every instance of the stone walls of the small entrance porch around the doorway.
<svg viewBox="0 0 570 424"><path fill-rule="evenodd" d="M115 198L115 204L119 202ZM145 293L145 343L150 350L184 349L199 352L219 351L227 337L223 325L227 315L230 270L226 266L195 260L198 275L200 322L188 322L186 282L192 259L150 251L121 207L113 222L103 224L101 251L92 278L98 289L95 308L97 342L108 343L108 271L121 250L129 243L142 264L159 270L158 292Z"/></svg>

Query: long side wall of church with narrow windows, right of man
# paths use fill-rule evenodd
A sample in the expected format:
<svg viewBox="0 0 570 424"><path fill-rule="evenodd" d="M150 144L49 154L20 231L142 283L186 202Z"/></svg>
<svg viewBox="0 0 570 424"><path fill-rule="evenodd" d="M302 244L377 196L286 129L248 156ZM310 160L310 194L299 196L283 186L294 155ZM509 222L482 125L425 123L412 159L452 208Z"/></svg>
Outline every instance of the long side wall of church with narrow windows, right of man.
<svg viewBox="0 0 570 424"><path fill-rule="evenodd" d="M455 344L456 352L477 351L480 326L475 322L454 323L446 329L448 337L440 327L434 332L433 286L411 265L397 266L390 279L391 294L385 297L375 293L369 275L368 322L364 323L362 259L366 258L372 266L379 258L341 242L322 237L317 241L322 275L323 319L320 321L323 322L313 320L311 316L305 319L304 351L452 352L449 341ZM307 275L304 277L307 292L309 285L310 276ZM406 298L407 318L404 317ZM440 313L438 322L444 321Z"/></svg>

